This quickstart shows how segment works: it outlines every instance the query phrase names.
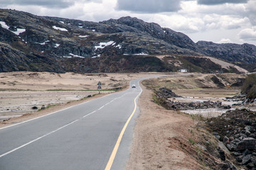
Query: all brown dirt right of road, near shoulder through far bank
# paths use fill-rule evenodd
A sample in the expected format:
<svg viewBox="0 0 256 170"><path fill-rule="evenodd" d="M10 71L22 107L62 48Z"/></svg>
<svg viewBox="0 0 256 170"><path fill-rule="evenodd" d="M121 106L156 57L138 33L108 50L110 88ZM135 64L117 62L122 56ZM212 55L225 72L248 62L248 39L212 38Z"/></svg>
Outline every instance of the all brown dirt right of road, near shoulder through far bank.
<svg viewBox="0 0 256 170"><path fill-rule="evenodd" d="M215 156L203 151L202 145L217 145L204 128L198 126L197 117L178 111L168 111L152 102L152 89L167 86L176 94L195 100L223 100L235 96L240 88L230 88L238 74L223 74L223 88L210 81L210 74L183 74L176 77L159 77L143 81L139 98L140 115L134 128L130 159L126 169L219 169ZM208 87L208 89L204 89ZM178 98L177 98L178 99ZM181 99L181 98L180 98ZM176 100L176 99L175 99ZM186 100L186 98L182 99ZM224 100L223 100L224 101ZM201 120L200 120L201 121ZM215 147L208 146L213 149ZM208 149L209 149L208 148ZM220 163L221 164L221 163Z"/></svg>

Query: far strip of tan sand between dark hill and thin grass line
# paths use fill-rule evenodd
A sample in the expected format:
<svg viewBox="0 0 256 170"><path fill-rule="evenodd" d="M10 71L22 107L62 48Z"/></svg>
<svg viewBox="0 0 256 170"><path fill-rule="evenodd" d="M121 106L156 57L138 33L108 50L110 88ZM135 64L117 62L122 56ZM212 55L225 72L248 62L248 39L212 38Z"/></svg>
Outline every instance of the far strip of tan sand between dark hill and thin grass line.
<svg viewBox="0 0 256 170"><path fill-rule="evenodd" d="M49 72L0 73L1 91L46 91L46 90L97 90L100 81L102 89L124 86L131 79L149 77L155 73L140 74L76 74Z"/></svg>

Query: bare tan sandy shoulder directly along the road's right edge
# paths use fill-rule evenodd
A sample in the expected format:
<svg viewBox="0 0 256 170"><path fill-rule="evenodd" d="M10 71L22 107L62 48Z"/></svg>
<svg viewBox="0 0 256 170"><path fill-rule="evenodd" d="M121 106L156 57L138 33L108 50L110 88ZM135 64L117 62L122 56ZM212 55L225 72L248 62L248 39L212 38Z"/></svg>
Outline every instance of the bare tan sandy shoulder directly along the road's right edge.
<svg viewBox="0 0 256 170"><path fill-rule="evenodd" d="M151 91L142 87L140 116L134 128L126 169L202 169L193 156L181 151L179 142L173 142L178 141L175 139L185 140L184 136L189 137L188 130L195 122L176 111L166 111L156 105L151 101Z"/></svg>

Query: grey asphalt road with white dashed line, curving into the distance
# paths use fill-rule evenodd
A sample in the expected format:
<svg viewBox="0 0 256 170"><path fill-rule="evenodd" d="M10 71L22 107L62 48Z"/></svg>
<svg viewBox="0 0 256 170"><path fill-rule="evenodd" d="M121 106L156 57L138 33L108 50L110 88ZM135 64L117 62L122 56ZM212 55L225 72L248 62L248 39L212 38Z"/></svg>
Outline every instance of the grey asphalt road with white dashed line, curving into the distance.
<svg viewBox="0 0 256 170"><path fill-rule="evenodd" d="M132 84L137 88L131 88ZM105 169L141 91L139 80L133 80L127 91L1 128L0 169ZM124 132L111 169L124 169L137 113L138 108Z"/></svg>

